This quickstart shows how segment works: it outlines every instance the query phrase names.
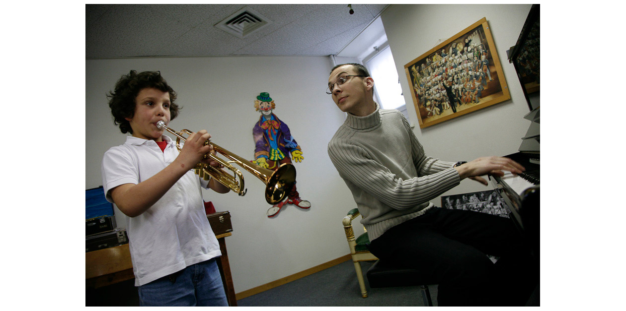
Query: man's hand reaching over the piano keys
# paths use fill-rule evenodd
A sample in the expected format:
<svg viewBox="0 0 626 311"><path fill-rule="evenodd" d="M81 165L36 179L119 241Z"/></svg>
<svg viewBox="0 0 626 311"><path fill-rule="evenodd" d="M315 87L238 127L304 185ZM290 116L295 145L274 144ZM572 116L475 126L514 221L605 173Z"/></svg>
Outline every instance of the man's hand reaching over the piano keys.
<svg viewBox="0 0 626 311"><path fill-rule="evenodd" d="M480 157L471 162L467 162L463 165L454 167L461 176L461 180L469 178L480 182L481 184L488 185L487 180L480 177L483 175L496 175L502 176L505 173L504 170L511 172L512 174L520 174L526 170L521 164L511 160L507 157Z"/></svg>

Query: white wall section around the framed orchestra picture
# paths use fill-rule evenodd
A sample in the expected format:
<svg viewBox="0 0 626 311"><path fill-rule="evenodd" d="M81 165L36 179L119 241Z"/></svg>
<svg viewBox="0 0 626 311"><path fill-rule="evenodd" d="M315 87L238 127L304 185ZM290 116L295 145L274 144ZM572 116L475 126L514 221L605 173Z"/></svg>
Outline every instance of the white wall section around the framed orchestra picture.
<svg viewBox="0 0 626 311"><path fill-rule="evenodd" d="M530 126L530 121L523 119L529 111L515 68L506 60L506 50L515 45L530 7L531 4L394 4L381 14L409 117L416 124L413 131L426 154L456 162L518 151L521 137ZM483 17L489 23L511 100L420 129L404 65ZM443 195L490 189L466 179ZM441 206L440 198L431 202Z"/></svg>

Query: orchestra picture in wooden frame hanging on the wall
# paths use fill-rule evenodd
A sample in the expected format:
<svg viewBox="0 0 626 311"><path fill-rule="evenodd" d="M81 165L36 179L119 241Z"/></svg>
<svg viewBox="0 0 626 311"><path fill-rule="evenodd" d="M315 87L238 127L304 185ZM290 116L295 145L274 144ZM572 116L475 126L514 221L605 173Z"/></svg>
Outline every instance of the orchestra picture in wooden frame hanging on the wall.
<svg viewBox="0 0 626 311"><path fill-rule="evenodd" d="M511 99L487 19L404 65L419 127Z"/></svg>

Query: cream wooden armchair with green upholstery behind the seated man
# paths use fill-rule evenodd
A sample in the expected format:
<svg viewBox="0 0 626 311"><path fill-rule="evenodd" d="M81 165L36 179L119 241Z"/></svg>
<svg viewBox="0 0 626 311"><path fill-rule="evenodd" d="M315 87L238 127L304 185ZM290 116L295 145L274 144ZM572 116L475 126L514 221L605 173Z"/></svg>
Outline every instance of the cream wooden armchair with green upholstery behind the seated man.
<svg viewBox="0 0 626 311"><path fill-rule="evenodd" d="M352 262L354 263L354 270L356 270L356 277L359 280L359 286L361 287L361 296L367 298L367 290L365 288L365 280L363 279L363 272L361 270L361 262L378 260L378 258L367 249L369 244L369 237L367 232L354 237L354 230L352 230L352 220L361 215L358 209L352 209L344 217L343 224L346 231L346 239L348 240L348 247L350 254L352 255Z"/></svg>

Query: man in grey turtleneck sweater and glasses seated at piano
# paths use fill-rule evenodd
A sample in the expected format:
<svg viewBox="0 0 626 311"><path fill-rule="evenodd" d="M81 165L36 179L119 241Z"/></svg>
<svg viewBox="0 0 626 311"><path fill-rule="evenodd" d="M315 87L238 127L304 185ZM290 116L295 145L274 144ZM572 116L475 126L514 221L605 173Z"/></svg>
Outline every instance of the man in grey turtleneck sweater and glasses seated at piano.
<svg viewBox="0 0 626 311"><path fill-rule="evenodd" d="M487 185L482 175L524 167L504 157L456 164L427 157L403 114L374 102L374 80L361 64L334 67L328 87L347 112L328 154L356 200L372 254L436 277L440 306L524 305L538 269L519 254L511 220L429 202L464 178Z"/></svg>

